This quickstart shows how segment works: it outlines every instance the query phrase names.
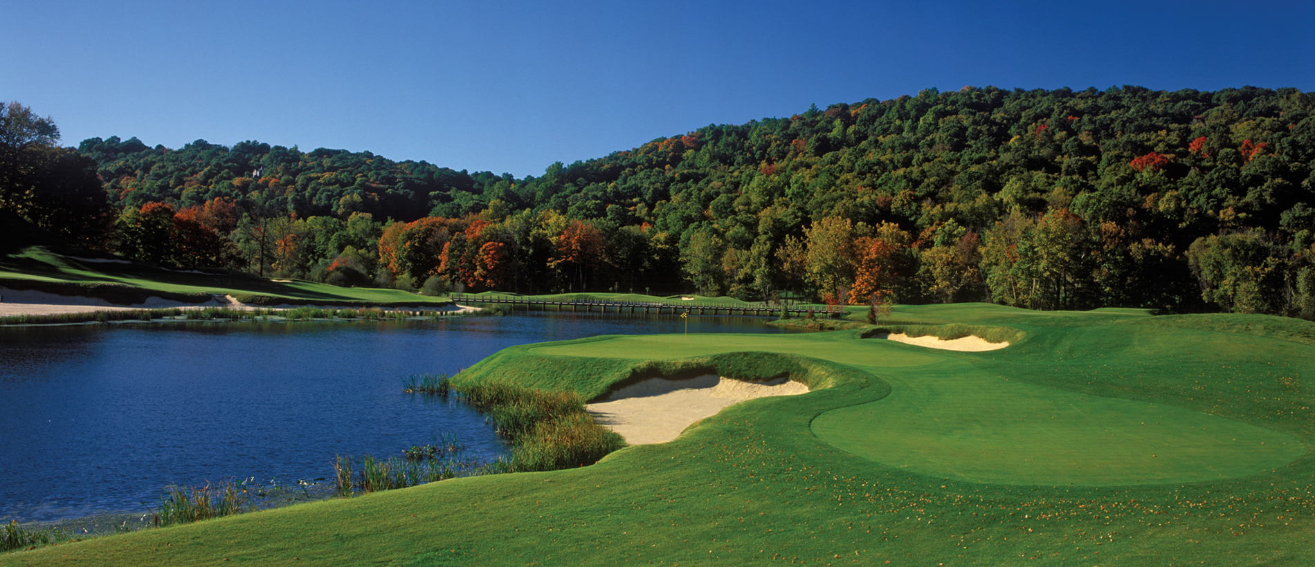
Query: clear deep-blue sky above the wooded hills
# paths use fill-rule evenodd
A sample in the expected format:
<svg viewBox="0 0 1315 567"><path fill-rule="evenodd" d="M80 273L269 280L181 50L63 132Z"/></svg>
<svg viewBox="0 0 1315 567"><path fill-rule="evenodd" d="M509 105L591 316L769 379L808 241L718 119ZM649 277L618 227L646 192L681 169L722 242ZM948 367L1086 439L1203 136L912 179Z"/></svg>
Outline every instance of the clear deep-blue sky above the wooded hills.
<svg viewBox="0 0 1315 567"><path fill-rule="evenodd" d="M138 136L540 175L935 87L1315 89L1308 1L0 0L0 101Z"/></svg>

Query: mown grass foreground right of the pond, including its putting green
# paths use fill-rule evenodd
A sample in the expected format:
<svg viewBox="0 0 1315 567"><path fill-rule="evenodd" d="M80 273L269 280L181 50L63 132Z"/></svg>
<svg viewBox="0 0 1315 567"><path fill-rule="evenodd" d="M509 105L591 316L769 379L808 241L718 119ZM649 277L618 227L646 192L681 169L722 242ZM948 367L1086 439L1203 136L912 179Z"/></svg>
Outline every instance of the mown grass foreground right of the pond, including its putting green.
<svg viewBox="0 0 1315 567"><path fill-rule="evenodd" d="M510 348L459 379L594 396L714 369L786 373L814 391L732 406L589 467L112 536L0 564L1315 563L1311 323L980 304L899 307L892 319L1018 340L980 353L861 331Z"/></svg>

